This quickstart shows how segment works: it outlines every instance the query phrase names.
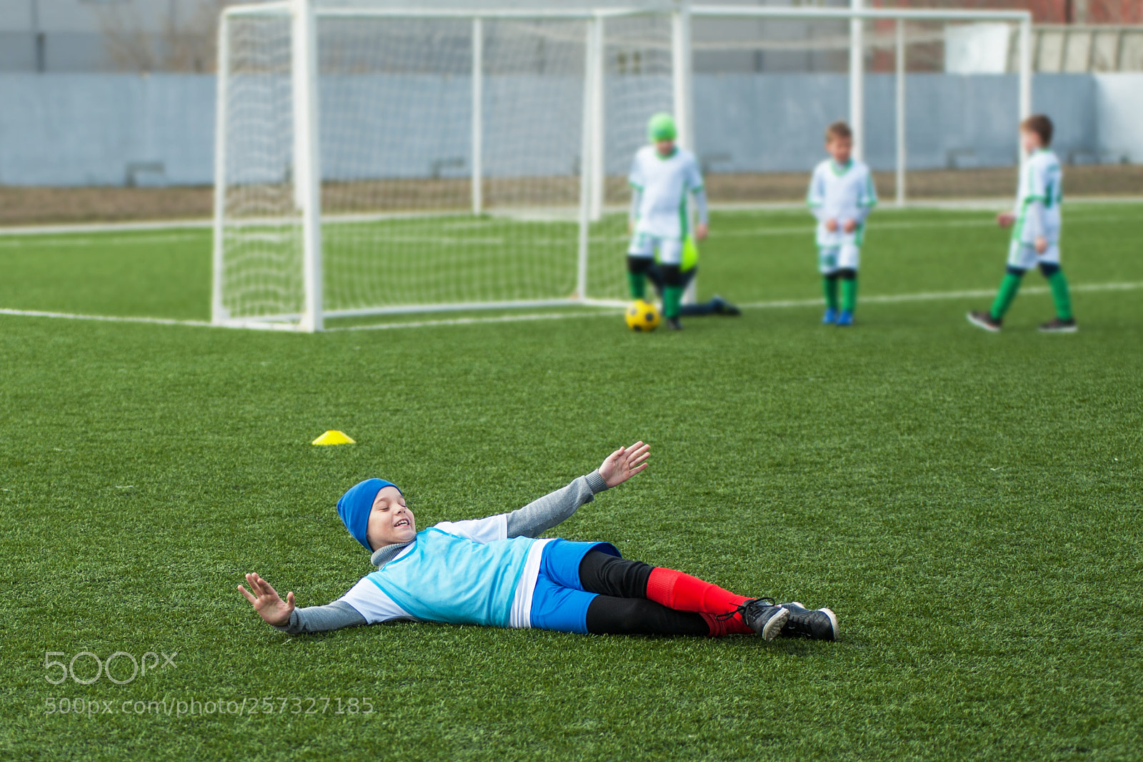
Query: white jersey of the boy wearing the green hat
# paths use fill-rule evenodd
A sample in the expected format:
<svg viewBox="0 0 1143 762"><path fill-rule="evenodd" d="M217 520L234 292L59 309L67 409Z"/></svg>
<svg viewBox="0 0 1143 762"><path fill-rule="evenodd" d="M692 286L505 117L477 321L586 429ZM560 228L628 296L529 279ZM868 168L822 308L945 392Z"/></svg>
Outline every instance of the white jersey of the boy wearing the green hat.
<svg viewBox="0 0 1143 762"><path fill-rule="evenodd" d="M685 238L687 197L703 190L703 175L690 151L677 148L668 157L654 145L636 153L628 178L636 190L636 232L656 238Z"/></svg>

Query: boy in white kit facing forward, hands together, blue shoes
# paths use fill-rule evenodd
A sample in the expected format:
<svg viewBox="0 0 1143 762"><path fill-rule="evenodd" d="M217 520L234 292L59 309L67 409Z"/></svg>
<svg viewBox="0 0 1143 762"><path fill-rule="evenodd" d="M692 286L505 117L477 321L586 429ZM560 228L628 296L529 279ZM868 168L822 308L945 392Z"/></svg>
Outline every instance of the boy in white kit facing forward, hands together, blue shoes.
<svg viewBox="0 0 1143 762"><path fill-rule="evenodd" d="M817 262L825 294L822 323L826 325L854 324L865 217L877 205L873 175L868 166L850 157L853 145L853 130L846 122L836 121L826 128L825 150L831 158L814 168L806 196L810 212L817 217Z"/></svg>

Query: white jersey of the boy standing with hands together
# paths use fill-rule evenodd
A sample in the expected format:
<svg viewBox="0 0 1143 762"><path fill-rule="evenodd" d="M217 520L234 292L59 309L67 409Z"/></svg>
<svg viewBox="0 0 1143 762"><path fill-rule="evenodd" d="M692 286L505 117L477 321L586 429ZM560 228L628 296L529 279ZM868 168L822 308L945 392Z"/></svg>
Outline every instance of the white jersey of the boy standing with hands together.
<svg viewBox="0 0 1143 762"><path fill-rule="evenodd" d="M865 217L877 206L873 175L869 167L857 159L850 159L845 165L826 159L814 167L806 204L817 217L818 246L832 247L847 243L856 243L860 246ZM838 223L838 229L833 232L825 227L830 220L836 220ZM845 233L842 224L846 220L856 222L857 230Z"/></svg>

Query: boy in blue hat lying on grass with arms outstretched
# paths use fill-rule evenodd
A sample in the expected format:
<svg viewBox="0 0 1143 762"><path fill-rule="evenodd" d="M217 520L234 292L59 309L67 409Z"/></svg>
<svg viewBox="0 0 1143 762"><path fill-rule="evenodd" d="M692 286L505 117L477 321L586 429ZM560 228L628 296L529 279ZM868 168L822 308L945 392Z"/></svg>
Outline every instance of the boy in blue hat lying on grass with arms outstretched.
<svg viewBox="0 0 1143 762"><path fill-rule="evenodd" d="M735 595L622 558L609 542L535 539L646 469L649 451L642 442L620 447L598 470L523 508L421 532L394 484L366 479L342 495L337 514L373 554L377 571L325 606L296 609L293 593L283 601L257 574L246 576L249 590L238 589L266 622L290 634L405 619L596 635L837 640L838 620L829 609Z"/></svg>

